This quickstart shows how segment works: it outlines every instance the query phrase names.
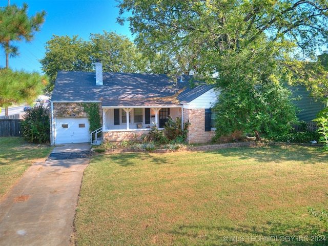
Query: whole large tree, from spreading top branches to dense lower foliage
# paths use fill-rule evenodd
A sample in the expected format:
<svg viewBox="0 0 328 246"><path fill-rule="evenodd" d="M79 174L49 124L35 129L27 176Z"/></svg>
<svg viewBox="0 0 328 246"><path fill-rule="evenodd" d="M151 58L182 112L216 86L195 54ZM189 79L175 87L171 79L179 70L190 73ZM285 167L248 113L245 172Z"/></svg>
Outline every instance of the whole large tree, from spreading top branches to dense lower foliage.
<svg viewBox="0 0 328 246"><path fill-rule="evenodd" d="M324 0L122 0L119 8L120 14L132 13L118 22L129 21L139 49L169 49L177 67L184 65L179 55L185 56L185 65L196 76L217 85L223 102L214 107L221 111L219 117L235 112L234 120L217 119L230 132L251 130L259 139L259 131L274 135L279 130L273 127L275 121L288 126L294 118L285 112L292 110L291 103L283 100L279 105L275 99L288 94L282 84L300 83L322 71L308 67L306 76L298 73L305 58L314 59L327 44Z"/></svg>

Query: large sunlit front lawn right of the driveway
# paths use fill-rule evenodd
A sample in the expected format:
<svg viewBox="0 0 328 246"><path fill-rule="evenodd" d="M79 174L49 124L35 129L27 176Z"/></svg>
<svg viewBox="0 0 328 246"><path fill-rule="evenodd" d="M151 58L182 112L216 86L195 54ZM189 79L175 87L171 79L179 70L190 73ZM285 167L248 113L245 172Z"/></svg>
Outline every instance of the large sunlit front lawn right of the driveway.
<svg viewBox="0 0 328 246"><path fill-rule="evenodd" d="M327 180L328 153L311 147L96 155L85 171L73 240L327 245L326 226L308 212L328 209Z"/></svg>

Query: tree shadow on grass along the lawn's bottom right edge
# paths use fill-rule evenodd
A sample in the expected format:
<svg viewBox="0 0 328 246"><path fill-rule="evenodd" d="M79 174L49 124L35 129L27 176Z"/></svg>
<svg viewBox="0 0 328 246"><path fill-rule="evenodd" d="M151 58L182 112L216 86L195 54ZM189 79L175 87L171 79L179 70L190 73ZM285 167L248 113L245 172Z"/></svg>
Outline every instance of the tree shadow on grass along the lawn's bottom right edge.
<svg viewBox="0 0 328 246"><path fill-rule="evenodd" d="M240 225L239 227L180 226L169 233L176 237L207 241L207 245L326 245L327 236L317 236L311 231L319 230L312 224L290 226L268 223L267 227ZM205 235L204 235L205 232ZM325 241L324 241L325 240ZM193 241L193 240L191 240Z"/></svg>

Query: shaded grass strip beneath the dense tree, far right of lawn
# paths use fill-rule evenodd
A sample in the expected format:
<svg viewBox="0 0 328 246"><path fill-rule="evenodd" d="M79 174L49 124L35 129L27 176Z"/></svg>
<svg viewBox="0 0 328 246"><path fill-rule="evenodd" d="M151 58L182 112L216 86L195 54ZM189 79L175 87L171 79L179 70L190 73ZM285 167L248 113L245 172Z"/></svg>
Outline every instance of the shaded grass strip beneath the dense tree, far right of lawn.
<svg viewBox="0 0 328 246"><path fill-rule="evenodd" d="M311 147L310 147L311 148ZM304 164L328 162L328 152L319 148L309 149L302 146L267 146L256 148L230 148L209 151L239 159L255 159L259 162L302 161Z"/></svg>

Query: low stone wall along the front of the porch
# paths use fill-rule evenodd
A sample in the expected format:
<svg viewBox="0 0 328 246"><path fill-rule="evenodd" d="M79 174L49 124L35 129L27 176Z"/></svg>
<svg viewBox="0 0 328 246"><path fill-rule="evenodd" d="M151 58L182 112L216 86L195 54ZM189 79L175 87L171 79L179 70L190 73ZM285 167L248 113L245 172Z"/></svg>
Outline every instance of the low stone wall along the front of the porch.
<svg viewBox="0 0 328 246"><path fill-rule="evenodd" d="M103 132L103 140L109 142L140 141L142 136L146 135L148 132L149 130Z"/></svg>

